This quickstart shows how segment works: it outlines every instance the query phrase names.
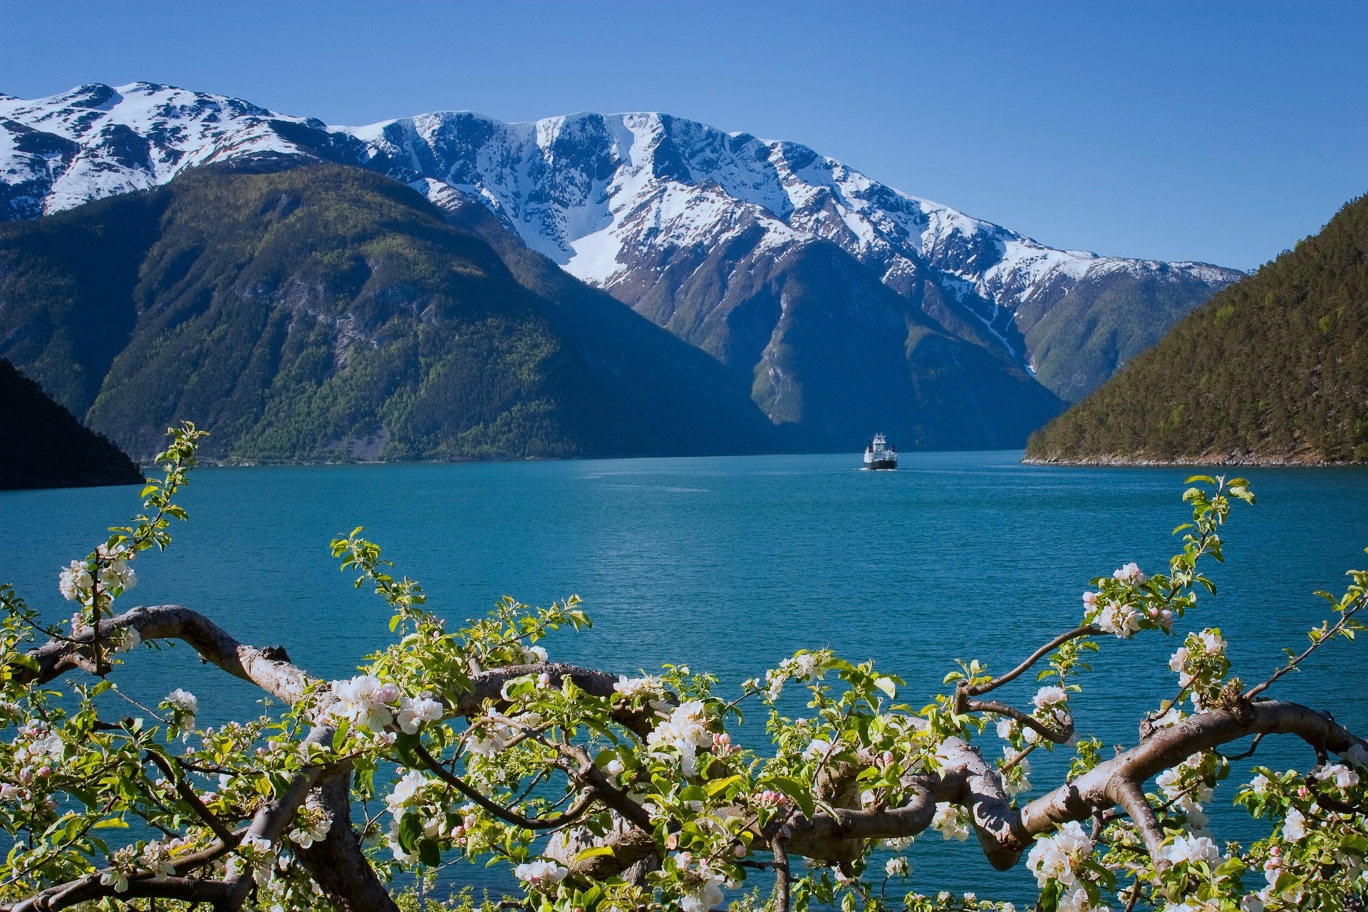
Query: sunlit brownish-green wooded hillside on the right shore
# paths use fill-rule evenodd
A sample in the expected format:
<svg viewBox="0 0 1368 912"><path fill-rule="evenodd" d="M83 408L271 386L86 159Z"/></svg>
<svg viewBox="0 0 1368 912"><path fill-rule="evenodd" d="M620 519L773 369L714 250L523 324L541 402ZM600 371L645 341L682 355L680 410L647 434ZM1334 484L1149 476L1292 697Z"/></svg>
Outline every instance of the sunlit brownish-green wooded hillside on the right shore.
<svg viewBox="0 0 1368 912"><path fill-rule="evenodd" d="M1042 461L1368 461L1368 198L1036 433Z"/></svg>

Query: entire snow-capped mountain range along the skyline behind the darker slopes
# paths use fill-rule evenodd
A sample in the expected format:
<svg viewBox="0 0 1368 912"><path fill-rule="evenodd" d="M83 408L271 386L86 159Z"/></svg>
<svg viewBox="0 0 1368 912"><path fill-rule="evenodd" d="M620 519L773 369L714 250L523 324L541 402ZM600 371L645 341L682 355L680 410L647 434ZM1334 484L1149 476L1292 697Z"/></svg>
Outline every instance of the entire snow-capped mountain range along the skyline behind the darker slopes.
<svg viewBox="0 0 1368 912"><path fill-rule="evenodd" d="M807 146L669 115L503 123L440 112L327 127L142 82L36 101L0 96L0 217L34 217L164 183L185 168L261 156L379 170L450 211L477 200L534 250L724 362L732 342L718 327L735 323L748 299L739 289L814 243L834 245L940 328L1038 373L1064 398L1090 390L1241 275L1056 250ZM1141 298L1161 298L1167 309L1137 314L1100 342L1075 339L1083 332L1075 320L1048 320L1070 294L1101 299L1118 287L1131 297L1140 287ZM762 369L744 360L777 317L763 323L750 328L755 338L736 369ZM1068 362L1089 345L1096 357ZM1057 356L1047 364L1045 351Z"/></svg>

